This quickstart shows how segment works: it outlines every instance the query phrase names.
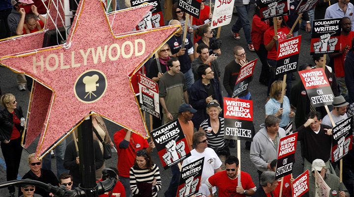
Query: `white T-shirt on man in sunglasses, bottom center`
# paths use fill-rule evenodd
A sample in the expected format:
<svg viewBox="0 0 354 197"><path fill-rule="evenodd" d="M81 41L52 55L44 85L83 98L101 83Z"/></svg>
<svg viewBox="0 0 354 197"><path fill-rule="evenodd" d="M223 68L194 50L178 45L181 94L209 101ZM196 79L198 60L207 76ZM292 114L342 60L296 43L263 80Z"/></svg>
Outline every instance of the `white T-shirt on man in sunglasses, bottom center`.
<svg viewBox="0 0 354 197"><path fill-rule="evenodd" d="M183 161L182 166L190 164L202 157L204 157L202 183L205 183L207 178L214 174L215 169L219 168L222 164L213 149L207 147L203 153L198 153L195 149L193 149L191 151L191 156ZM214 194L216 192L216 187L213 187L212 190Z"/></svg>

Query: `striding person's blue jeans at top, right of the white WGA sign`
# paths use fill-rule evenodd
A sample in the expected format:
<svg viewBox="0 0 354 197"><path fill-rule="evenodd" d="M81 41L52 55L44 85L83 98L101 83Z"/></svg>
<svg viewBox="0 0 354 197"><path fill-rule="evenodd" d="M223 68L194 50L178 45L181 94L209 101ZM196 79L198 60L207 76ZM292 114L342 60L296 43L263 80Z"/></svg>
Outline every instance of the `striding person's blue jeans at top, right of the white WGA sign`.
<svg viewBox="0 0 354 197"><path fill-rule="evenodd" d="M241 7L236 6L238 19L235 25L232 27L232 32L238 33L241 28L243 28L243 32L245 33L246 41L248 44L252 44L251 39L251 25L248 20L248 10L250 5L243 5Z"/></svg>

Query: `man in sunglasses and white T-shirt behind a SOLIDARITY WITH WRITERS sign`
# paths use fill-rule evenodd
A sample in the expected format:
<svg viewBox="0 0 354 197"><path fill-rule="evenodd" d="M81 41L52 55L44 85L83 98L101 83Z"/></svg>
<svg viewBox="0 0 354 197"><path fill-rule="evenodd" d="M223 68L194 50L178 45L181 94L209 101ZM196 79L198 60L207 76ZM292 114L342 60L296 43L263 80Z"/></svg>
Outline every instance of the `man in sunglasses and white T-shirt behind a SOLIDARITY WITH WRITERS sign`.
<svg viewBox="0 0 354 197"><path fill-rule="evenodd" d="M199 160L204 157L203 172L202 172L202 182L206 183L206 180L221 171L221 160L211 148L207 147L207 135L204 131L197 131L193 134L193 147L191 151L191 156L183 161L182 166L188 165L194 161ZM216 188L212 188L212 193L216 193ZM206 194L204 194L206 195Z"/></svg>

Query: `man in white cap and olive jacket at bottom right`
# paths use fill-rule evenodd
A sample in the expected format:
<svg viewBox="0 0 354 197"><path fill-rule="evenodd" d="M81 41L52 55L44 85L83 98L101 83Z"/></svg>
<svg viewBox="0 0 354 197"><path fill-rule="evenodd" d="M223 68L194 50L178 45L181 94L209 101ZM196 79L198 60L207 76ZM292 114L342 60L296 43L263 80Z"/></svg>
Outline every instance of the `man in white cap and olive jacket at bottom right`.
<svg viewBox="0 0 354 197"><path fill-rule="evenodd" d="M329 192L330 197L349 197L350 196L347 188L343 185L343 183L340 183L339 177L336 176L335 174L327 173L327 168L326 168L326 164L324 164L324 161L321 159L316 159L312 162L312 166L311 166L312 176L310 176L310 179L309 179L309 182L310 182L309 196L310 197L316 196L315 170L317 170L320 173L320 175L324 179L324 182L331 189Z"/></svg>

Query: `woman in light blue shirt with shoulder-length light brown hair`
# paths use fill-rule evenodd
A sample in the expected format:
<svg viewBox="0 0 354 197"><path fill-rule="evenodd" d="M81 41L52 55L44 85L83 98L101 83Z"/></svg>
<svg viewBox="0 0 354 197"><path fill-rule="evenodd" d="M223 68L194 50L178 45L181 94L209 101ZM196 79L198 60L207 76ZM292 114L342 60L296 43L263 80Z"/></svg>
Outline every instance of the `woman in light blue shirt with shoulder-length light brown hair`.
<svg viewBox="0 0 354 197"><path fill-rule="evenodd" d="M279 127L285 130L286 126L290 123L290 118L295 117L295 112L290 107L290 101L287 96L284 96L281 105L283 81L274 81L270 87L270 99L266 103L266 117L274 115L280 119Z"/></svg>

